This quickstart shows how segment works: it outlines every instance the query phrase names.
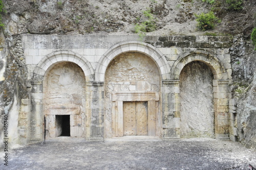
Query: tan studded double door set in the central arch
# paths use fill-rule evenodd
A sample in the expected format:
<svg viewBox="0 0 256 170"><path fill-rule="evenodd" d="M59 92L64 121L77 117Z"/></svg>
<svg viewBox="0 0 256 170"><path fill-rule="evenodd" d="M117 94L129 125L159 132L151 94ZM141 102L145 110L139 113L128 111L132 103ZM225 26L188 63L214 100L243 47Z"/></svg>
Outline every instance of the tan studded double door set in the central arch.
<svg viewBox="0 0 256 170"><path fill-rule="evenodd" d="M147 135L147 102L123 102L123 135Z"/></svg>

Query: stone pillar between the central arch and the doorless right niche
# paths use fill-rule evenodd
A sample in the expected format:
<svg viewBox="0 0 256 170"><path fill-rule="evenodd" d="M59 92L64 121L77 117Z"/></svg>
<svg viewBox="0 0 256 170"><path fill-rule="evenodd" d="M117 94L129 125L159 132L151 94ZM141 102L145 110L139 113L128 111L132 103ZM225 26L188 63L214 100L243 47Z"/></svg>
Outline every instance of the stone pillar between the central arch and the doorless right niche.
<svg viewBox="0 0 256 170"><path fill-rule="evenodd" d="M163 140L180 138L179 80L166 80L162 85Z"/></svg>

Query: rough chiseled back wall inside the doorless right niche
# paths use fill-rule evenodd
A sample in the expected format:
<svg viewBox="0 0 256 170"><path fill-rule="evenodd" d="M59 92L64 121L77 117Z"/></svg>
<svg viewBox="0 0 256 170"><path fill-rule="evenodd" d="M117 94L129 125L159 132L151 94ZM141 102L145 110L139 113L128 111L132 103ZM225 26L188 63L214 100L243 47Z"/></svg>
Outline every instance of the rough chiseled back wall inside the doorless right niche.
<svg viewBox="0 0 256 170"><path fill-rule="evenodd" d="M215 137L212 72L198 61L187 64L180 75L181 137Z"/></svg>

